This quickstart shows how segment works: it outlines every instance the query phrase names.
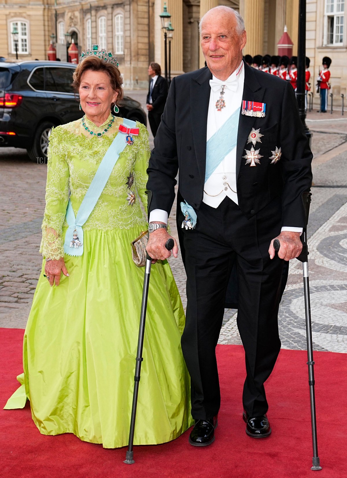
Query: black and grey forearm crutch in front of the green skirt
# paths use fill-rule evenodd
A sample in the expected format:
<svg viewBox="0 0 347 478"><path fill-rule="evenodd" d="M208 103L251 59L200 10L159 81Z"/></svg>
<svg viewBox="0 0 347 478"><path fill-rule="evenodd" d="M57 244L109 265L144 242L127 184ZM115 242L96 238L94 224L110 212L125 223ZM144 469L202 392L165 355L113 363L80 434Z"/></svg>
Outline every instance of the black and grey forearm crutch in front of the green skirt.
<svg viewBox="0 0 347 478"><path fill-rule="evenodd" d="M173 248L174 242L173 239L168 239L166 241L165 247L167 250ZM132 396L132 409L131 409L131 420L130 420L130 432L129 432L129 445L128 451L126 454L126 459L124 463L127 465L132 465L135 463L133 458L133 444L134 444L134 430L135 430L135 418L136 418L136 408L137 408L137 397L139 394L139 382L141 374L141 362L142 358L142 348L143 348L143 337L144 337L144 328L146 322L146 311L147 311L147 299L148 299L148 286L150 283L150 274L152 266L152 257L146 255L146 266L145 266L145 275L143 280L143 291L142 291L142 303L141 303L141 315L140 315L140 328L139 328L139 340L137 343L137 355L136 355L136 367L135 367L135 377L134 377L134 393Z"/></svg>

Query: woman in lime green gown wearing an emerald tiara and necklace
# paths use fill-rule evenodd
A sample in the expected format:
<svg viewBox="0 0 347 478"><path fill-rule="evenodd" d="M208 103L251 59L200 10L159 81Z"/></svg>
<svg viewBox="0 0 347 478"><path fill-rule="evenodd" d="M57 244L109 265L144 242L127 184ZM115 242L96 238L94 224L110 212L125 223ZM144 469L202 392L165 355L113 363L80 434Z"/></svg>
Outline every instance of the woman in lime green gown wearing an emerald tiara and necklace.
<svg viewBox="0 0 347 478"><path fill-rule="evenodd" d="M81 120L57 126L49 143L43 270L23 342L22 386L5 408L30 400L44 435L74 433L106 448L128 444L143 268L130 243L146 230L148 132L119 130L122 79L106 52L84 54L74 73ZM83 225L83 254L64 252L70 198L76 216L116 135L125 146ZM78 240L74 236L74 239ZM80 243L82 241L80 240ZM58 287L57 287L58 286ZM173 440L191 424L180 338L184 311L166 261L152 266L134 444Z"/></svg>

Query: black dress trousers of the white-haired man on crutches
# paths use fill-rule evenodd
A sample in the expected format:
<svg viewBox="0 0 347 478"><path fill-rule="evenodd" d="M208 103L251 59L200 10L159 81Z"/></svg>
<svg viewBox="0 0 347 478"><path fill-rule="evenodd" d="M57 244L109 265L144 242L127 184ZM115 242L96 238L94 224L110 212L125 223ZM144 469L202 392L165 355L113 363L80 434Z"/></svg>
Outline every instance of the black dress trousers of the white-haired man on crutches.
<svg viewBox="0 0 347 478"><path fill-rule="evenodd" d="M267 412L264 382L281 348L278 308L283 261L269 256L281 232L282 201L275 198L247 219L226 197L213 208L202 203L193 230L182 231L187 274L186 324L182 350L191 376L192 415L211 418L220 407L216 346L231 268L239 282L237 324L245 349L247 377L243 407L250 416ZM177 216L181 228L183 214Z"/></svg>

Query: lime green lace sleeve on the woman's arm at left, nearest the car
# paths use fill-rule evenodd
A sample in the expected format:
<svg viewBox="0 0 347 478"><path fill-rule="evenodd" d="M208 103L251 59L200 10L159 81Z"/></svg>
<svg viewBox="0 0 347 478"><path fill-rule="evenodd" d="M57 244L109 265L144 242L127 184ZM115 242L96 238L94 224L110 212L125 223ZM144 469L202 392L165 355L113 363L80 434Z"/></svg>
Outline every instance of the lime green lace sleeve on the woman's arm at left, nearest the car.
<svg viewBox="0 0 347 478"><path fill-rule="evenodd" d="M64 131L52 129L49 138L46 207L42 223L40 252L45 259L64 257L63 225L69 199L69 168L66 162Z"/></svg>

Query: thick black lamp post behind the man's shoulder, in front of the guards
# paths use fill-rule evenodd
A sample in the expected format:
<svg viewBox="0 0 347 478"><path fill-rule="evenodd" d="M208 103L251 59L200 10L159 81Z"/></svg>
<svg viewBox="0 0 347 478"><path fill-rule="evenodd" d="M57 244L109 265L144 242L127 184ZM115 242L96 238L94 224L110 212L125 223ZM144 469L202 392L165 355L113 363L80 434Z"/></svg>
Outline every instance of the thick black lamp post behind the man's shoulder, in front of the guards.
<svg viewBox="0 0 347 478"><path fill-rule="evenodd" d="M306 111L305 111L305 94L306 94L306 0L299 1L299 33L298 33L298 76L296 83L296 100L299 107L300 119L303 123L304 130L311 146L312 133L306 125Z"/></svg>

